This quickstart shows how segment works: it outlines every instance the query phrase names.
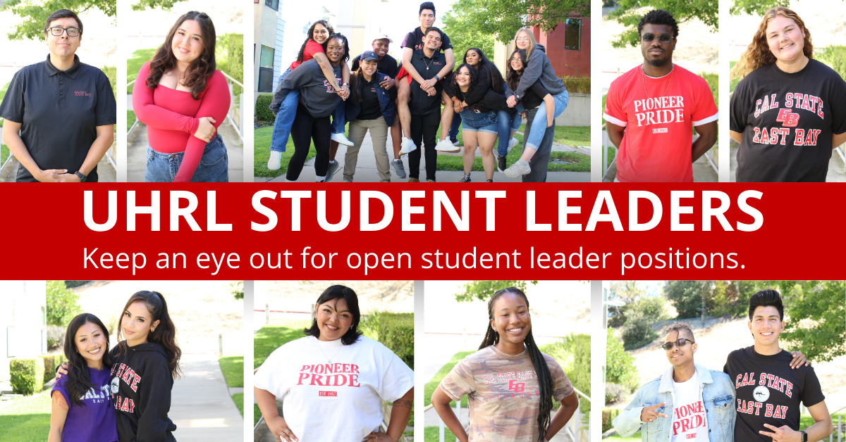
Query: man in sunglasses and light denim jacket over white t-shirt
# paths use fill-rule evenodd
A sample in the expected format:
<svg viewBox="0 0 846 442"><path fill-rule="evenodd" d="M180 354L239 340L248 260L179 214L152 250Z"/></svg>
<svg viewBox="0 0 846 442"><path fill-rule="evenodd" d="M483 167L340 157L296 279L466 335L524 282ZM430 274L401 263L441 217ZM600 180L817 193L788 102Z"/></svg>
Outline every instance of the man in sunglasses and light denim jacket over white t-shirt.
<svg viewBox="0 0 846 442"><path fill-rule="evenodd" d="M620 436L640 431L642 440L732 440L734 388L727 374L693 362L693 330L683 322L667 328L662 345L671 367L646 383L614 418Z"/></svg>

